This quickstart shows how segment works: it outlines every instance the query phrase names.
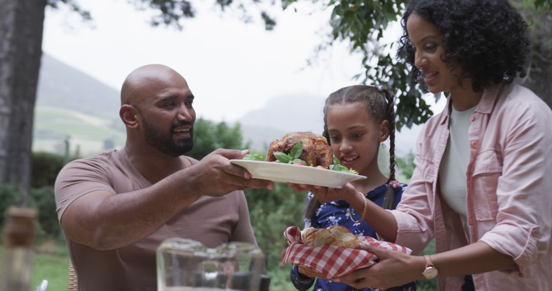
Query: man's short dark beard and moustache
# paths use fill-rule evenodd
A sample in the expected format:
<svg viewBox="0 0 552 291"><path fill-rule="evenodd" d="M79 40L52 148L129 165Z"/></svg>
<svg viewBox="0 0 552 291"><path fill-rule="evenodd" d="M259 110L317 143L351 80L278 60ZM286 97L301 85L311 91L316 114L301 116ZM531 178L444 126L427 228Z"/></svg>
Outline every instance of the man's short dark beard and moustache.
<svg viewBox="0 0 552 291"><path fill-rule="evenodd" d="M190 128L190 138L181 138L175 141L173 139L174 128L192 125L192 122L181 121L175 122L171 125L171 130L167 133L163 133L159 128L151 123L147 122L142 117L142 123L144 123L144 138L147 144L156 148L161 153L170 155L171 157L178 157L183 155L194 147L194 128Z"/></svg>

